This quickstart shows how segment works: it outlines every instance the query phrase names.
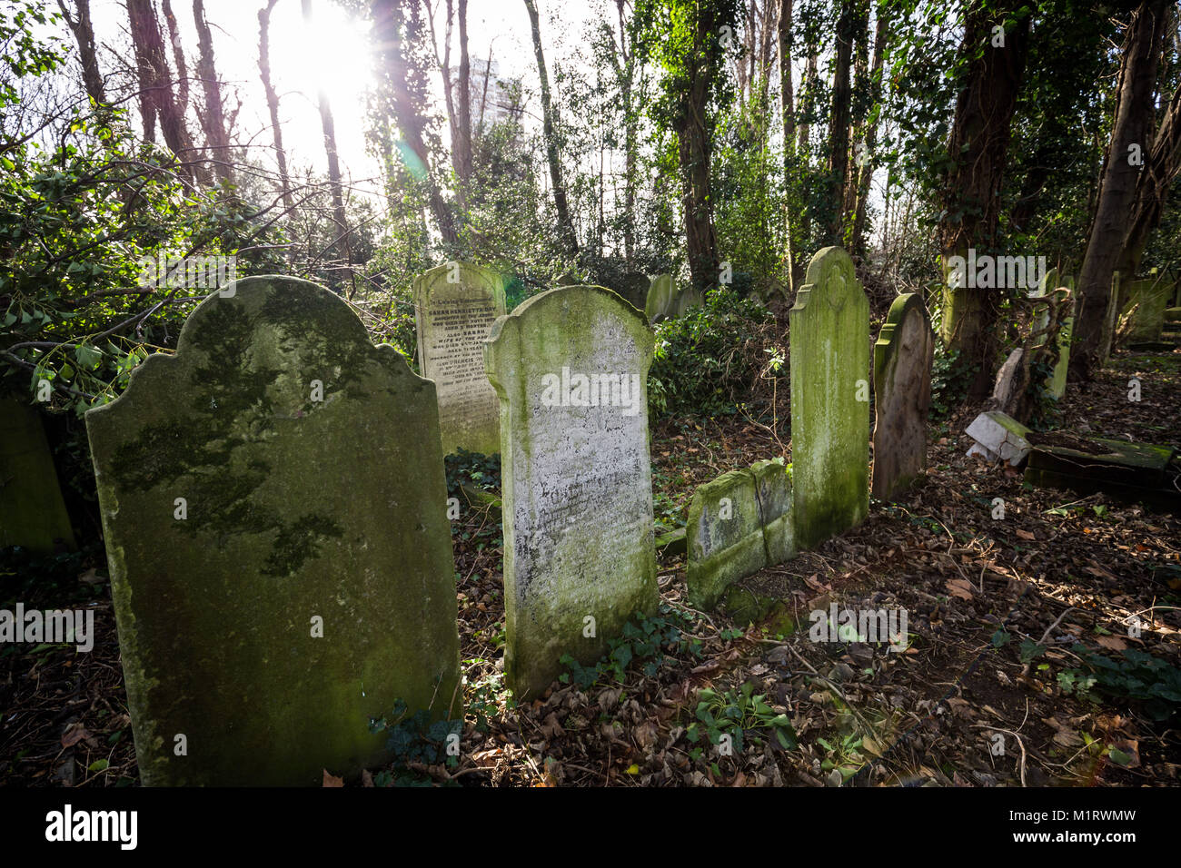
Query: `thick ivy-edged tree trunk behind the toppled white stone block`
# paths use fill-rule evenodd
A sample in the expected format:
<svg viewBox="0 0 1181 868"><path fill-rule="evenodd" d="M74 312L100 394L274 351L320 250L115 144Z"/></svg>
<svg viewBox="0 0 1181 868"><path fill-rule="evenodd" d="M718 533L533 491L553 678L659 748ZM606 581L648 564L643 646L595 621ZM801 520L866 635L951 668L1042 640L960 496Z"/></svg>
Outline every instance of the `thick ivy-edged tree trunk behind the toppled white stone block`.
<svg viewBox="0 0 1181 868"><path fill-rule="evenodd" d="M1027 14L1018 18L998 44L993 26L1012 17L1012 9L990 12L979 0L967 11L961 48L967 73L955 100L947 145L952 162L945 177L944 216L939 224L945 275L950 259L966 255L968 248L988 255L997 253L1000 191L1013 110L1029 54ZM971 286L944 289L942 339L973 371L970 400L987 397L992 389L998 347L996 324L1004 294L1005 289Z"/></svg>

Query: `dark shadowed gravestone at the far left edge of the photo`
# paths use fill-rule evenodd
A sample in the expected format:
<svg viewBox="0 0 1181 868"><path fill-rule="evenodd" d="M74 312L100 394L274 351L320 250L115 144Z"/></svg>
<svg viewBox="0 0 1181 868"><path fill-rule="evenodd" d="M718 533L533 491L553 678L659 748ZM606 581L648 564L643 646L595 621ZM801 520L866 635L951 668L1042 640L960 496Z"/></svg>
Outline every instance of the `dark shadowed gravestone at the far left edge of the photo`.
<svg viewBox="0 0 1181 868"><path fill-rule="evenodd" d="M0 399L0 548L8 546L76 548L41 417L14 398Z"/></svg>

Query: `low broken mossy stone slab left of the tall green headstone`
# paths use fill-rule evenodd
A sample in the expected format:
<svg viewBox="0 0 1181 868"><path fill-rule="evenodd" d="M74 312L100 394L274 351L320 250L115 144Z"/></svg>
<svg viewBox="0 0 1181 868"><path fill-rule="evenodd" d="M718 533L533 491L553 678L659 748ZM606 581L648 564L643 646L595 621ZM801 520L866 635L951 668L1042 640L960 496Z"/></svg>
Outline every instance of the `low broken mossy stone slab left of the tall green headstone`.
<svg viewBox="0 0 1181 868"><path fill-rule="evenodd" d="M685 534L689 601L712 609L731 583L795 556L787 468L763 461L705 483L693 492Z"/></svg>

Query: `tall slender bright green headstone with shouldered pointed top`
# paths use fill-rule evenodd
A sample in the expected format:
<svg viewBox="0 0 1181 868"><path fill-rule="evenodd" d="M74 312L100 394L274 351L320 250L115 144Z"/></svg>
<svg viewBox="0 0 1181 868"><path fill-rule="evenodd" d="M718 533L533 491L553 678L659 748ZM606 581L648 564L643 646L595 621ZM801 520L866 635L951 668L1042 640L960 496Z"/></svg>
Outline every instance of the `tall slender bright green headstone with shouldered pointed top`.
<svg viewBox="0 0 1181 868"><path fill-rule="evenodd" d="M869 511L869 300L839 247L813 256L789 312L796 544Z"/></svg>

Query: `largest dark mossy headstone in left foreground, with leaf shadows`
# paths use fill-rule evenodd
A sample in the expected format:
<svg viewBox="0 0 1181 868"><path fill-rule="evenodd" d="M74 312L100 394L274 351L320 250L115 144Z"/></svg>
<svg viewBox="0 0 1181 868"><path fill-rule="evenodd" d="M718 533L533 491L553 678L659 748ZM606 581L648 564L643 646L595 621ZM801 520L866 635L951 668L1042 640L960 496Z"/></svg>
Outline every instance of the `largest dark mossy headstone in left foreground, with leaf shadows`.
<svg viewBox="0 0 1181 868"><path fill-rule="evenodd" d="M348 306L249 278L86 415L148 785L317 784L371 718L458 713L435 385Z"/></svg>

